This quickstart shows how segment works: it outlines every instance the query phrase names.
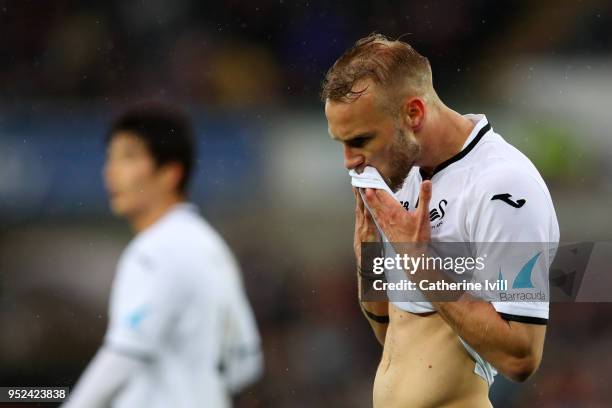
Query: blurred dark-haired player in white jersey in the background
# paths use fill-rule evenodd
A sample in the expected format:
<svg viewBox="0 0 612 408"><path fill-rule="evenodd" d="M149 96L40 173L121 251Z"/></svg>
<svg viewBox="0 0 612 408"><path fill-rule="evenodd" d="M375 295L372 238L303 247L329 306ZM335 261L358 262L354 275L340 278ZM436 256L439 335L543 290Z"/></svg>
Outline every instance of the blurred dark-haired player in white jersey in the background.
<svg viewBox="0 0 612 408"><path fill-rule="evenodd" d="M239 268L186 201L194 152L189 121L163 105L112 125L104 180L136 236L119 260L104 343L66 407L228 407L260 376Z"/></svg>

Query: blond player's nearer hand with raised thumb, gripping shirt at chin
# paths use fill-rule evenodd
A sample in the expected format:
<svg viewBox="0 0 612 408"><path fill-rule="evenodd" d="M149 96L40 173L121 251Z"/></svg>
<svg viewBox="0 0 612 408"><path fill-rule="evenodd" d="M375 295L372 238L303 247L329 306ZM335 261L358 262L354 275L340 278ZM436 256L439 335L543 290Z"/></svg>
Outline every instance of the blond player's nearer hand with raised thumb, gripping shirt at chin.
<svg viewBox="0 0 612 408"><path fill-rule="evenodd" d="M367 188L365 199L381 230L390 242L428 243L431 239L429 201L431 181L421 184L419 206L406 211L402 205L384 190Z"/></svg>

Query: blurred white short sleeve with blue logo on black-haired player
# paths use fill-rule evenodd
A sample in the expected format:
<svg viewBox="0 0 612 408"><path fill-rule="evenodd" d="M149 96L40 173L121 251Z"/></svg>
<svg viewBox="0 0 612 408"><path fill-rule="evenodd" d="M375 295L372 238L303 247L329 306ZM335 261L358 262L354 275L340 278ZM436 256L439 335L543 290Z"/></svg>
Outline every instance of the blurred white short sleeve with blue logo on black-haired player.
<svg viewBox="0 0 612 408"><path fill-rule="evenodd" d="M152 251L129 249L113 284L105 343L135 356L155 354L181 309L179 279Z"/></svg>

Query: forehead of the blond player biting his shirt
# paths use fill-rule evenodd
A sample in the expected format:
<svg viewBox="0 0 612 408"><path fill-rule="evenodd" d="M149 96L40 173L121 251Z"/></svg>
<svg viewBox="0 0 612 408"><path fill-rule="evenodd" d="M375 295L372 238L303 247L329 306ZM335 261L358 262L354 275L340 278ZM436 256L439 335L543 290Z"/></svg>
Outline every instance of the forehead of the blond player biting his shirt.
<svg viewBox="0 0 612 408"><path fill-rule="evenodd" d="M325 102L325 116L330 136L345 140L358 133L371 132L383 120L376 88L370 87L351 101Z"/></svg>

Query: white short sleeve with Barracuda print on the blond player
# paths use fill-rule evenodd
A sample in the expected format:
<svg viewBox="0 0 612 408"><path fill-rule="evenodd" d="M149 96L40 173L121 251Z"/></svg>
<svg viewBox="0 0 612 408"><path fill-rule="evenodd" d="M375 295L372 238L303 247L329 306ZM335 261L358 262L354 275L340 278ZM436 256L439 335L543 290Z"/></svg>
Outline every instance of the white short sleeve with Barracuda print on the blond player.
<svg viewBox="0 0 612 408"><path fill-rule="evenodd" d="M467 227L478 256L486 257L481 280L505 281L506 288L490 298L497 312L506 320L546 324L559 227L538 178L503 167L487 173L474 186Z"/></svg>

